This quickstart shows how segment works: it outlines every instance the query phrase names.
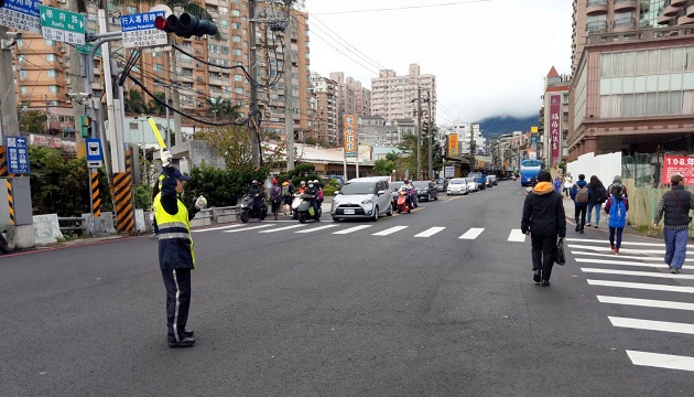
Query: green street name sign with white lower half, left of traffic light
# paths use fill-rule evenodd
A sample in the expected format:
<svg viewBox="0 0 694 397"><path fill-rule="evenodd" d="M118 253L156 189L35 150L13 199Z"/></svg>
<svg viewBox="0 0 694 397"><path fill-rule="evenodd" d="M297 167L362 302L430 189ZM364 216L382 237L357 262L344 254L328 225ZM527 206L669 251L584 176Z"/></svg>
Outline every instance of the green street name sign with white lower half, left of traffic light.
<svg viewBox="0 0 694 397"><path fill-rule="evenodd" d="M41 6L41 34L44 39L84 45L85 32L83 14Z"/></svg>

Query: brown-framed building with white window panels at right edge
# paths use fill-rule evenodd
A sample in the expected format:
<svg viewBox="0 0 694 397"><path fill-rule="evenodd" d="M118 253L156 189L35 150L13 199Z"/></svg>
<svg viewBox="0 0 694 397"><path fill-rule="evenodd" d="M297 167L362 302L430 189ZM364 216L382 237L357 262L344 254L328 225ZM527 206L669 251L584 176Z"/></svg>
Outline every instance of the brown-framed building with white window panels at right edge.
<svg viewBox="0 0 694 397"><path fill-rule="evenodd" d="M574 43L583 50L572 79L568 159L691 150L694 1L588 0L585 15L574 13L587 25L585 43Z"/></svg>

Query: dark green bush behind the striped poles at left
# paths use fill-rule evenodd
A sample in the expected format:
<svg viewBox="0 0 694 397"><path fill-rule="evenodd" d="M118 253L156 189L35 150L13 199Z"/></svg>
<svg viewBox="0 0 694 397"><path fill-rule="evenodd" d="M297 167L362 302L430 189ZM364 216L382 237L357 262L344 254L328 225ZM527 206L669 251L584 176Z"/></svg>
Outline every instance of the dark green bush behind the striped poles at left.
<svg viewBox="0 0 694 397"><path fill-rule="evenodd" d="M71 159L58 149L29 148L33 213L80 216L90 212L90 176L85 159ZM111 211L108 180L99 173L101 211Z"/></svg>

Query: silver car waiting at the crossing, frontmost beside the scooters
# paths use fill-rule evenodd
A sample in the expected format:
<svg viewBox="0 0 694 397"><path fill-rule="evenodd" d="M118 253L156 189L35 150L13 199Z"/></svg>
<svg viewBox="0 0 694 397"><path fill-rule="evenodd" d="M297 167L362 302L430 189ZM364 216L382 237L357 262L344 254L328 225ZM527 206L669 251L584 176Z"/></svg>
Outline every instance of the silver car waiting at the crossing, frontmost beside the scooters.
<svg viewBox="0 0 694 397"><path fill-rule="evenodd" d="M386 214L392 216L392 194L388 178L355 178L347 181L337 192L330 206L333 221L340 218L370 218Z"/></svg>

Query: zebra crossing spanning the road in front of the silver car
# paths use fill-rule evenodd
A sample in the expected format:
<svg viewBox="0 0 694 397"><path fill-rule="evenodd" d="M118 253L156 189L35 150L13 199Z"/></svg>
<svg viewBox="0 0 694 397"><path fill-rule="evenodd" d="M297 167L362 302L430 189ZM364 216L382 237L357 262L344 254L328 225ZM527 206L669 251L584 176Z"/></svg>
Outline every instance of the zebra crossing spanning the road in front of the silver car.
<svg viewBox="0 0 694 397"><path fill-rule="evenodd" d="M371 236L392 236L395 234L410 233L410 237L413 238L430 238L434 236L441 236L445 233L456 233L456 238L464 240L474 240L484 236L485 232L488 232L485 227L469 227L465 230L458 227L451 226L390 226L386 227L386 225L381 224L347 224L347 223L305 223L299 224L292 222L290 225L282 224L282 222L263 222L263 223L249 223L249 224L234 224L234 225L225 225L218 227L208 227L200 229L193 229L192 233L209 233L209 232L219 232L219 233L259 233L259 234L271 234L278 232L285 233L299 233L299 234L308 234L308 233L318 233L325 232L332 235L350 235L357 233L368 233ZM464 232L463 234L459 234ZM494 237L496 238L496 236ZM520 229L509 229L508 242L510 243L524 243L525 234L523 234Z"/></svg>

